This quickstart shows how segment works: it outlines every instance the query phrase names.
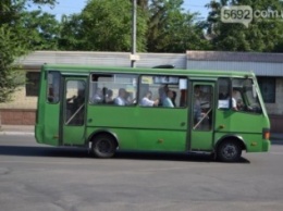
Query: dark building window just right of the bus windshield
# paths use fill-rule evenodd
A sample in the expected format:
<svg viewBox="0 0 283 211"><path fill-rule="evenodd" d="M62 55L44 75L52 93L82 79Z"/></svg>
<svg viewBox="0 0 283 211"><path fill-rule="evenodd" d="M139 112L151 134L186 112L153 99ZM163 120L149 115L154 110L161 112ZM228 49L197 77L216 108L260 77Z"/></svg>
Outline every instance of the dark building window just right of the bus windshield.
<svg viewBox="0 0 283 211"><path fill-rule="evenodd" d="M258 77L258 85L263 98L267 103L275 103L275 77Z"/></svg>

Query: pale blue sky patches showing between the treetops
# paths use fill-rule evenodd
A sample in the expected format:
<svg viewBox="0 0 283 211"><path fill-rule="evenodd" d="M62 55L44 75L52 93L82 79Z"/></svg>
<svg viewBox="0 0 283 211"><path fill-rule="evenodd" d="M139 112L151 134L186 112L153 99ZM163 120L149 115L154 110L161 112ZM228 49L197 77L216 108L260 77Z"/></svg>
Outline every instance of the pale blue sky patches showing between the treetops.
<svg viewBox="0 0 283 211"><path fill-rule="evenodd" d="M73 13L81 12L86 5L87 0L58 0L58 4L54 9L50 9L50 7L44 7L42 10L54 14L57 20L61 20L63 14L69 15ZM208 14L208 10L205 8L210 0L184 0L183 7L189 12L199 12L200 17L206 17ZM32 9L36 9L36 7L32 7Z"/></svg>

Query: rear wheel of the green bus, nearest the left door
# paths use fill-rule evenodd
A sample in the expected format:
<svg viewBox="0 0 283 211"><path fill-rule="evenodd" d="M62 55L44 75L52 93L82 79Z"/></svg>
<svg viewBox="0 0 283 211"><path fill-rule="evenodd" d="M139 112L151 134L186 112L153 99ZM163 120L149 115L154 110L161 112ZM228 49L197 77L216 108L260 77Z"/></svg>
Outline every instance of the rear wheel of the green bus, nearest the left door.
<svg viewBox="0 0 283 211"><path fill-rule="evenodd" d="M91 151L98 158L111 158L114 156L115 149L115 140L108 134L98 135L93 140Z"/></svg>

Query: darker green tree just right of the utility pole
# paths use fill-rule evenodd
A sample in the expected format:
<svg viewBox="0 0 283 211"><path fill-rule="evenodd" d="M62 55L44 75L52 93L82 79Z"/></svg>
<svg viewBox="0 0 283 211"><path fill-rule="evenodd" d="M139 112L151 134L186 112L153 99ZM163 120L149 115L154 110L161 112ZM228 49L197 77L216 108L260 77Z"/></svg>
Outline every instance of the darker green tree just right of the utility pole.
<svg viewBox="0 0 283 211"><path fill-rule="evenodd" d="M151 52L185 52L208 49L198 14L185 12L183 0L152 0L149 5L148 50Z"/></svg>

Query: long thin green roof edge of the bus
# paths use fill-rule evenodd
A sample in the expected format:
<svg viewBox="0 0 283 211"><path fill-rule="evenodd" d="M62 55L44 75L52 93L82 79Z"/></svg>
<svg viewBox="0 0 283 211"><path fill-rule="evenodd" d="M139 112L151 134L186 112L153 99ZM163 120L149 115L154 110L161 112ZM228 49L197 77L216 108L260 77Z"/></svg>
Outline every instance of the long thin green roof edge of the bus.
<svg viewBox="0 0 283 211"><path fill-rule="evenodd" d="M190 76L221 76L221 77L253 77L253 72L241 71L216 71L216 70L189 70L189 69L149 69L149 67L113 67L113 66L94 66L94 65L73 65L73 64L44 64L41 71L60 71L69 73L143 73L143 74L171 74L171 75L190 75Z"/></svg>

